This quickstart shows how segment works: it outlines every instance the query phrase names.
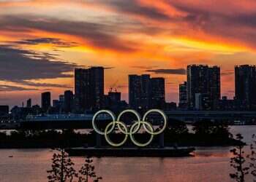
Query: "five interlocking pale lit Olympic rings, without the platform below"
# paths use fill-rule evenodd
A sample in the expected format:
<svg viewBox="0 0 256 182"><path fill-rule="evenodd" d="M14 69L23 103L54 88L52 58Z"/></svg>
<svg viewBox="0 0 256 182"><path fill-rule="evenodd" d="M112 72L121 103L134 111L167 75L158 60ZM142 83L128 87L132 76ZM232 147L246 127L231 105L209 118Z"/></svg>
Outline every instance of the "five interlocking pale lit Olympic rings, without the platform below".
<svg viewBox="0 0 256 182"><path fill-rule="evenodd" d="M152 124L150 122L146 122L146 117L148 116L148 114L151 114L152 112L157 112L159 113L163 119L164 119L164 124L161 130L154 132L154 127L152 126ZM106 113L109 114L112 122L110 122L107 127L105 127L105 131L102 132L101 130L99 130L99 128L96 126L95 124L95 120L97 119L97 116L99 114L102 113ZM132 113L135 114L135 116L137 117L138 121L135 121L134 124L132 124L132 126L129 128L127 128L126 124L124 124L124 122L121 122L121 116L125 113ZM110 134L110 132L113 132L113 130L115 130L115 126L117 124L118 130L121 131L121 133L123 133L125 135L124 140L121 141L120 143L113 143L113 141L110 140L108 134ZM141 125L143 125L143 128L146 132L148 132L148 134L151 135L151 137L149 138L149 140L146 143L140 143L138 141L135 140L134 138L134 134L136 132L138 132L140 130ZM101 110L101 111L97 111L96 114L94 114L94 117L92 119L92 127L94 128L95 132L97 132L99 135L105 135L105 140L108 142L108 144L110 144L110 146L122 146L124 145L124 143L127 141L128 135L129 138L131 139L132 143L134 143L136 146L148 146L148 144L151 143L151 141L153 141L154 135L159 135L160 133L164 132L165 128L167 126L167 116L165 115L165 113L159 109L151 109L149 111L146 112L146 114L144 114L142 121L140 120L140 114L138 114L137 111L132 110L132 109L127 109L122 111L117 119L115 114L113 114L112 111L109 110Z"/></svg>

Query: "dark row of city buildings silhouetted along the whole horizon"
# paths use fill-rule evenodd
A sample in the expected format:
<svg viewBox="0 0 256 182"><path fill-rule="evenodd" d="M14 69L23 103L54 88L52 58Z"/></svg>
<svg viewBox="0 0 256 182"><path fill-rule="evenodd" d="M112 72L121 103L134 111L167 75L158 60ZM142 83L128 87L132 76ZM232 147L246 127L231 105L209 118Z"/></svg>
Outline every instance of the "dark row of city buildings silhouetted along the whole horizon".
<svg viewBox="0 0 256 182"><path fill-rule="evenodd" d="M240 68L240 69L239 69ZM211 101L209 101L211 103L210 109L219 109L219 108L214 108L214 100L222 100L223 98L225 98L225 100L227 100L227 95L223 95L222 94L222 90L219 87L219 85L221 84L220 80L222 75L220 74L220 67L218 66L208 66L208 65L196 65L196 64L192 64L192 65L188 65L187 66L187 79L178 85L179 90L178 90L178 101L174 102L177 103L177 106L179 106L180 108L196 108L195 106L195 97L199 96L199 95L195 95L197 93L200 93L200 95L202 94L207 94L207 98L209 97L209 99ZM239 69L239 72L238 72ZM101 108L102 106L105 105L105 103L103 100L105 100L105 96L108 96L108 94L111 94L111 92L113 93L120 93L120 99L119 100L124 100L123 98L121 98L121 92L119 92L119 90L116 89L116 87L114 85L112 85L113 87L110 87L109 90L107 92L102 92L103 90L105 90L104 85L105 85L105 68L102 66L92 66L92 67L87 67L87 68L75 68L74 72L74 84L75 87L77 88L76 90L64 90L64 92L59 93L58 98L52 98L51 96L51 92L50 91L45 91L45 92L40 92L41 98L40 98L40 102L39 103L32 103L31 98L23 98L22 103L20 103L20 105L15 105L15 106L24 106L26 103L26 106L31 107L31 105L38 105L41 106L42 108L49 108L50 106L54 105L58 105L60 104L59 102L64 102L64 95L66 97L71 97L70 96L70 92L72 94L72 99L74 99L74 104L72 107L77 107L77 108L83 108L83 110L90 110L91 108ZM234 81L236 84L236 87L234 88L234 90L236 90L235 95L233 98L230 98L230 100L233 99L238 99L238 100L244 100L243 103L241 104L245 104L248 103L248 99L246 100L245 97L252 97L252 93L254 92L254 90L256 89L256 84L255 84L255 76L256 76L256 65L240 65L240 66L235 66L234 67L234 76L236 76L236 80ZM248 74L248 70L251 71L251 74ZM239 74L240 75L239 75ZM250 77L245 77L245 75L248 75ZM201 78L199 78L198 76L200 76ZM146 108L149 106L151 107L154 106L155 107L162 107L163 103L172 103L172 101L168 101L166 100L166 84L165 84L165 78L164 77L151 77L151 74L129 74L127 75L129 83L127 85L128 87L128 93L132 94L132 92L136 92L136 85L143 84L143 86L139 86L144 90L144 93L142 95L134 95L134 93L132 95L129 96L127 103L129 103L129 106L136 108L135 106L138 106L138 103L141 104L141 106L146 106ZM195 81L190 81L191 78L193 78L192 80L197 80L197 82ZM197 78L198 77L198 78ZM97 79L99 82L97 82L98 84L95 84L95 86L93 87L89 87L89 85L94 85L94 79ZM248 82L249 80L252 80L250 82ZM132 81L131 80L135 80ZM86 84L86 82L88 82ZM153 83L153 81L155 81ZM133 83L134 82L134 83ZM190 83L191 86L187 86L187 82L192 82ZM133 83L133 84L131 84ZM246 84L247 83L247 84ZM130 85L131 84L131 85ZM189 85L190 85L189 84ZM246 84L246 87L244 86L244 84ZM152 85L158 85L158 88L154 88L153 90L150 89L150 87L152 87ZM83 88L87 87L87 91L84 90ZM132 86L132 87L131 87ZM140 90L140 88L138 87L138 89ZM143 88L144 87L144 88ZM189 94L189 87L193 87L193 92L192 95L194 95L193 99L194 101L189 101L189 95L191 95L191 93ZM247 92L241 92L241 88L246 88L243 90L250 90ZM93 90L91 90L93 89ZM96 89L96 90L95 90ZM198 90L199 89L199 90ZM203 90L202 90L203 89ZM83 91L84 90L84 91ZM148 91L150 90L150 92ZM69 92L69 95L67 96L67 92ZM92 93L96 93L99 92L98 96L95 96ZM190 91L191 92L191 91ZM87 94L86 94L87 93ZM83 98L83 95L87 95L86 97L89 98ZM140 94L140 93L138 93ZM45 100L45 96L43 95L47 95L46 96L46 101ZM75 97L75 95L77 95L77 97ZM81 95L81 96L79 96ZM236 95L241 95L240 97L236 96ZM82 97L82 98L81 98ZM96 97L96 98L94 98ZM115 96L114 96L115 97ZM213 98L214 97L214 98ZM243 98L244 97L244 98ZM110 96L111 98L111 96ZM28 100L27 100L28 99ZM131 100L136 100L139 99L138 101L132 101L132 102L136 102L135 103L131 103ZM140 100L140 99L144 99L144 101ZM146 101L145 101L146 99ZM150 100L155 100L150 101ZM70 99L69 99L70 100ZM80 100L80 101L79 101ZM86 101L87 100L87 101ZM90 101L91 100L91 101ZM94 103L95 100L98 100L96 102L98 103ZM190 99L191 100L191 99ZM253 101L252 101L253 100ZM253 104L255 104L255 97L252 97L251 102ZM34 101L34 100L33 100ZM44 103L46 102L46 103ZM144 102L144 103L143 103ZM146 102L146 103L145 103ZM152 102L152 103L151 103ZM192 106L191 105L192 103ZM198 98L197 98L197 102L198 102ZM86 104L85 104L86 103ZM63 103L64 104L64 103ZM96 104L96 105L95 105ZM157 104L157 105L156 105ZM181 104L181 105L180 105ZM8 105L8 104L6 104ZM44 106L45 105L45 106ZM9 105L8 105L9 106ZM11 106L12 107L12 106ZM69 111L71 111L72 109L70 108L71 105L69 103ZM198 108L197 108L198 109ZM205 108L204 108L205 109ZM208 110L208 109L206 109Z"/></svg>

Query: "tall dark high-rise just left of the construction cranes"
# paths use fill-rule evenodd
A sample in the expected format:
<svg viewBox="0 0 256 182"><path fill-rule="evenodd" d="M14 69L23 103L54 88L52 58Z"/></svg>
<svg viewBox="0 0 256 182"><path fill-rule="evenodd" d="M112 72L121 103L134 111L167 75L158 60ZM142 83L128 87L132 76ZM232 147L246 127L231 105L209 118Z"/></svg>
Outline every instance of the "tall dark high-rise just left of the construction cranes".
<svg viewBox="0 0 256 182"><path fill-rule="evenodd" d="M104 100L104 68L75 69L75 104L80 111L97 110Z"/></svg>

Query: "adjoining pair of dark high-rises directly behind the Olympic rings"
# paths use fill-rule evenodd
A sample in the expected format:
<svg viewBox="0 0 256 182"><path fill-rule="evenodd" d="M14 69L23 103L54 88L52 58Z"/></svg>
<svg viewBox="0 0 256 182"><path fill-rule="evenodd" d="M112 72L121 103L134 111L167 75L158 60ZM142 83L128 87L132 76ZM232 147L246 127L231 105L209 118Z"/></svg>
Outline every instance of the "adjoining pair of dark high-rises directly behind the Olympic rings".
<svg viewBox="0 0 256 182"><path fill-rule="evenodd" d="M129 106L160 108L165 105L165 79L150 78L149 74L129 75Z"/></svg>

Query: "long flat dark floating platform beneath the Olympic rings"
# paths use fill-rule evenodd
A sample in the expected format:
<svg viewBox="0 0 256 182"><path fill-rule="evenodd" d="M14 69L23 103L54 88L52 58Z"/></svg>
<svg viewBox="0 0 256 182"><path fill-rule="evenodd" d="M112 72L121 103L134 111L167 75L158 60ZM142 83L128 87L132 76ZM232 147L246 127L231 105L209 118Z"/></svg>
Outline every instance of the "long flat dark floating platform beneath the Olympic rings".
<svg viewBox="0 0 256 182"><path fill-rule="evenodd" d="M69 156L91 157L191 157L195 148L71 148L66 149Z"/></svg>

